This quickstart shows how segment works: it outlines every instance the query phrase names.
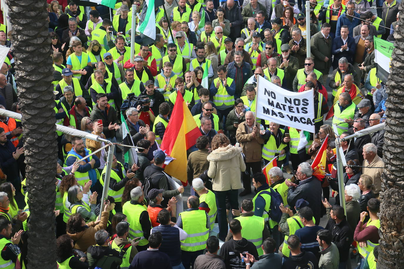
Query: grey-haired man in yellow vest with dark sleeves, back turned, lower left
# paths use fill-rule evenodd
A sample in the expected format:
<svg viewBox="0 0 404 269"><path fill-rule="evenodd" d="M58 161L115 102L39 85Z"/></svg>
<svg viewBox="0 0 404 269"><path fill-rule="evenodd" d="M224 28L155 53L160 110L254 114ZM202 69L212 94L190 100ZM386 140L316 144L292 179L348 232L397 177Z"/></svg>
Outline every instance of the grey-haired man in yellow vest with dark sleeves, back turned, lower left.
<svg viewBox="0 0 404 269"><path fill-rule="evenodd" d="M149 244L147 239L150 236L151 222L149 213L142 204L145 196L140 186L130 191L130 198L130 202L126 202L124 206L122 206L122 213L126 215L128 223L130 224L129 238L141 238L139 245L136 246L137 250L140 252L147 250Z"/></svg>

